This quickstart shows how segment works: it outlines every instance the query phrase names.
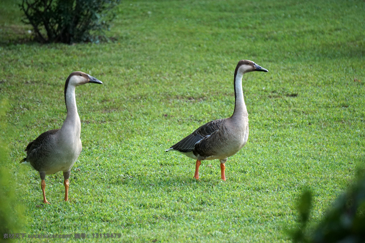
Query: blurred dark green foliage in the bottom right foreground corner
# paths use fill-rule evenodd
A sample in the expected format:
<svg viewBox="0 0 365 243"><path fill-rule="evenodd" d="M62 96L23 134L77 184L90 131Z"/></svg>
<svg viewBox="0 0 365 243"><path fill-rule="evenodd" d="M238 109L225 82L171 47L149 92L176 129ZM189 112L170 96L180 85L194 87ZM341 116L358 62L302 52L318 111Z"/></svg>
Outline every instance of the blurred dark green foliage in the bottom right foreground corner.
<svg viewBox="0 0 365 243"><path fill-rule="evenodd" d="M299 222L292 232L293 242L365 242L365 175L338 197L318 225L306 229L311 201L311 192L304 192L299 200Z"/></svg>

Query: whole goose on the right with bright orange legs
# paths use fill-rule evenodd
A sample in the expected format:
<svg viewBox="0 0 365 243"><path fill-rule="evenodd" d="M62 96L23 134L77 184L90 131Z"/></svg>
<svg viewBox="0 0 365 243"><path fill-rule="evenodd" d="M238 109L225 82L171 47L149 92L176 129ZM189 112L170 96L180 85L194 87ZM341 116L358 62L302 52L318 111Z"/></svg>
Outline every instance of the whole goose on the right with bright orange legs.
<svg viewBox="0 0 365 243"><path fill-rule="evenodd" d="M250 60L240 60L234 71L234 111L231 117L210 121L200 126L189 136L165 151L177 151L196 160L194 178L199 179L202 160L220 161L221 179L226 180L225 169L228 157L245 146L249 137L249 119L243 99L242 77L252 71L268 72Z"/></svg>

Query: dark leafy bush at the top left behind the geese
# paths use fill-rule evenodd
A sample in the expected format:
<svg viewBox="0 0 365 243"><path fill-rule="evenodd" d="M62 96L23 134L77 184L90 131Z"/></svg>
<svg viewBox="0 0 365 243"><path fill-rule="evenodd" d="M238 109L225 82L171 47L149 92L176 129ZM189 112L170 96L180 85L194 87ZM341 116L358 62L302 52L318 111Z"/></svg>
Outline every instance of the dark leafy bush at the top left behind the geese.
<svg viewBox="0 0 365 243"><path fill-rule="evenodd" d="M23 0L23 22L34 28L41 43L98 42L114 19L120 0ZM98 33L99 35L93 35Z"/></svg>

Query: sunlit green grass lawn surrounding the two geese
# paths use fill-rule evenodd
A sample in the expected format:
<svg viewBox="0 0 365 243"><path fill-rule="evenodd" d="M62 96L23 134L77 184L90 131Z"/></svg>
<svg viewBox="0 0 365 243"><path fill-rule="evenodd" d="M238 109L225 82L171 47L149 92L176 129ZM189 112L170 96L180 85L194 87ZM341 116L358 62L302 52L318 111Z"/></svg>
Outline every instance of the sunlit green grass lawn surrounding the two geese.
<svg viewBox="0 0 365 243"><path fill-rule="evenodd" d="M31 28L5 4L2 169L26 207L15 233L289 242L300 193L312 190L318 222L364 164L364 1L123 1L113 42L72 46L27 41ZM249 141L228 158L227 181L218 160L203 161L196 181L195 161L164 149L231 115L240 59L269 70L243 78ZM37 207L39 175L19 161L29 141L62 125L64 82L77 70L104 84L76 89L83 150L70 201L59 172L46 176L51 204Z"/></svg>

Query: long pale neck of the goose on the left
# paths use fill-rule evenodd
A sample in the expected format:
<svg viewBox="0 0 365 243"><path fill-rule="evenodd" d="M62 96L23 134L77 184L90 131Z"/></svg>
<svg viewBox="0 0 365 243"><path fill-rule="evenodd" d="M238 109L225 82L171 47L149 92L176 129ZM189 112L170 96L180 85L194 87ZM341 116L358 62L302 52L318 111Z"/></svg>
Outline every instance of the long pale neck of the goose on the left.
<svg viewBox="0 0 365 243"><path fill-rule="evenodd" d="M81 122L77 113L75 86L68 85L65 94L67 115L61 130L80 138Z"/></svg>

